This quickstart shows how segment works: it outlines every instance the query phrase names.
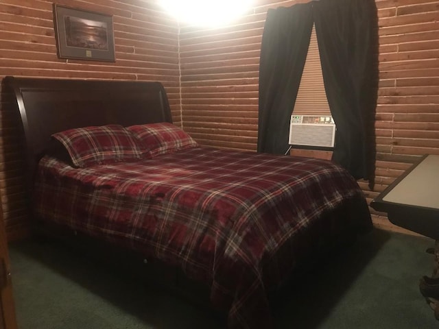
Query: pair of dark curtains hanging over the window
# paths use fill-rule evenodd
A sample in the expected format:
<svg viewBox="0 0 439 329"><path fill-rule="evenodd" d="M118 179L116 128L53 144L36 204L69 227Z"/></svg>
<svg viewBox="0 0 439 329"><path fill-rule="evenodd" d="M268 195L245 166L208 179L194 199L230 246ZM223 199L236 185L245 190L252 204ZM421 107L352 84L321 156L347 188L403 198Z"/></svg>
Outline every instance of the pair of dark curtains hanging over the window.
<svg viewBox="0 0 439 329"><path fill-rule="evenodd" d="M368 179L370 162L368 162L366 136L366 112L370 110L372 88L372 33L374 31L372 12L373 0L320 0L310 3L293 5L290 8L278 8L270 14L271 22L265 23L269 29L270 38L277 34L287 34L294 40L308 38L309 29L313 22L322 60L324 86L327 92L329 107L333 115L337 134L333 161L341 164L355 178ZM375 2L374 2L375 4ZM288 10L289 17L285 19ZM307 13L304 15L303 13ZM273 23L273 21L276 21ZM283 21L295 21L283 24ZM275 29L276 27L276 29ZM292 64L278 64L278 54L264 49L267 45L265 29L261 46L261 62L259 73L259 135L258 151L282 154L288 147L289 115L294 108L297 90L296 84L302 75L303 65L297 62L305 61L307 45L296 42L286 45L294 48L283 61ZM264 44L265 43L265 44ZM287 47L287 46L285 46ZM303 50L296 47L305 47ZM291 57L290 57L291 56ZM296 56L296 57L292 57ZM270 64L268 64L270 62ZM265 67L268 66L268 67ZM275 69L272 69L274 66ZM290 71L294 68L295 71ZM265 73L272 70L272 75ZM287 72L283 72L288 71ZM277 73L280 73L277 75ZM296 77L289 77L296 75ZM267 76L269 78L267 78ZM288 76L286 80L284 76ZM273 81L276 81L273 84ZM294 87L294 88L292 88ZM283 94L289 94L288 96ZM261 103L261 97L265 101Z"/></svg>

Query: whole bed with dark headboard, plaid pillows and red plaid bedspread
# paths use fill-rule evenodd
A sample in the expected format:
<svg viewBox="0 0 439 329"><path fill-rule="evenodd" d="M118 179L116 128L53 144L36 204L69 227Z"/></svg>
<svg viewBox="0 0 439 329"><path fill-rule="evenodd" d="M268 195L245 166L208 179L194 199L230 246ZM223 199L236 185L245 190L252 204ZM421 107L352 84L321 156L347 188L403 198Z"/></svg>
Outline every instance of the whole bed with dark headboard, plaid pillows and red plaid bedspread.
<svg viewBox="0 0 439 329"><path fill-rule="evenodd" d="M199 145L172 124L158 82L5 83L23 123L34 226L178 269L208 287L229 328L270 328L272 292L320 250L372 227L344 169ZM90 135L104 142L90 147Z"/></svg>

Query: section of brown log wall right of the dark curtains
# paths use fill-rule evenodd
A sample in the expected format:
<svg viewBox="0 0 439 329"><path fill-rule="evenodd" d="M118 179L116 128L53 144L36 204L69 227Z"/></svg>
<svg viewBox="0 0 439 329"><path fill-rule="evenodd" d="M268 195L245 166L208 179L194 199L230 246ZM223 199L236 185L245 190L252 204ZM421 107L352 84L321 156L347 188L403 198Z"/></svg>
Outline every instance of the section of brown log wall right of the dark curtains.
<svg viewBox="0 0 439 329"><path fill-rule="evenodd" d="M439 1L381 0L377 8L377 169L369 199L419 156L439 154ZM387 225L384 214L372 213Z"/></svg>

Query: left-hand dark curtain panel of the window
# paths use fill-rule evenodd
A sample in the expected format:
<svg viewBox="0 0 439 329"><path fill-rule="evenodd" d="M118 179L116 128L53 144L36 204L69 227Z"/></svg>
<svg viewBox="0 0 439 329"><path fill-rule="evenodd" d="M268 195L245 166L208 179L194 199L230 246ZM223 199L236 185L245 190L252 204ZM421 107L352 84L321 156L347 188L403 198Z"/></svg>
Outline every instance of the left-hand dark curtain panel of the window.
<svg viewBox="0 0 439 329"><path fill-rule="evenodd" d="M307 4L268 10L259 62L259 152L284 154L288 149L289 117L312 27L312 8Z"/></svg>

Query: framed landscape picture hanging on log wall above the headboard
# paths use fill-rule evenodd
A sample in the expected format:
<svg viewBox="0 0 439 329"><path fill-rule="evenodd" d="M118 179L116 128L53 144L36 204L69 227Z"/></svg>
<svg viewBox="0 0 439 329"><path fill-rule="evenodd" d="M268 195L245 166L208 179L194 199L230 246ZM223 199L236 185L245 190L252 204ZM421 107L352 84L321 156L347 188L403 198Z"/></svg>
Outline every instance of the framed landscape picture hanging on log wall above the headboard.
<svg viewBox="0 0 439 329"><path fill-rule="evenodd" d="M54 3L59 58L115 62L112 16Z"/></svg>

